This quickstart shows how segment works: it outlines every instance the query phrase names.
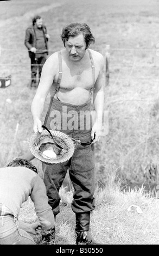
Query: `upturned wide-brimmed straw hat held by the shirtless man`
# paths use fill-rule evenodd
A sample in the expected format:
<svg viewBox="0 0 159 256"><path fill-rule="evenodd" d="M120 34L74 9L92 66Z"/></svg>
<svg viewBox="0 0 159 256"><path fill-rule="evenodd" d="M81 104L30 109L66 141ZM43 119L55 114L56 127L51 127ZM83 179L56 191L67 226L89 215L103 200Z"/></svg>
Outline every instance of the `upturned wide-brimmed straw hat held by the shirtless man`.
<svg viewBox="0 0 159 256"><path fill-rule="evenodd" d="M34 133L29 141L29 149L31 153L39 159L41 162L46 164L56 164L62 163L69 160L74 153L74 142L72 139L63 132L50 130L52 133L55 142L58 143L62 149L58 148L54 142L52 137L49 135L48 131L43 130L39 137ZM39 143L36 145L37 138L39 138ZM56 158L51 158L43 154L48 147L52 147L54 153L56 154Z"/></svg>

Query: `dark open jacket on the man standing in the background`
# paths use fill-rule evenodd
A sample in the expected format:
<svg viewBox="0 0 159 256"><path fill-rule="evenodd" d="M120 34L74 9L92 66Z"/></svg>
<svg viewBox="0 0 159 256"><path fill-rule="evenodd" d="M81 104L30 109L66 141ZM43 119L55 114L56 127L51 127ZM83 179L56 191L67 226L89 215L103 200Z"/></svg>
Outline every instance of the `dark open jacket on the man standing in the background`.
<svg viewBox="0 0 159 256"><path fill-rule="evenodd" d="M46 38L45 34L47 34L47 29L46 26L42 26L42 31L43 31L43 36L44 36L44 41L46 43L46 48L47 48L47 54L48 54L48 38ZM30 50L31 47L36 48L36 33L35 33L35 28L34 26L31 26L26 29L26 38L24 41L24 45L28 48L28 51ZM30 53L30 51L29 51Z"/></svg>

